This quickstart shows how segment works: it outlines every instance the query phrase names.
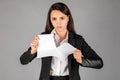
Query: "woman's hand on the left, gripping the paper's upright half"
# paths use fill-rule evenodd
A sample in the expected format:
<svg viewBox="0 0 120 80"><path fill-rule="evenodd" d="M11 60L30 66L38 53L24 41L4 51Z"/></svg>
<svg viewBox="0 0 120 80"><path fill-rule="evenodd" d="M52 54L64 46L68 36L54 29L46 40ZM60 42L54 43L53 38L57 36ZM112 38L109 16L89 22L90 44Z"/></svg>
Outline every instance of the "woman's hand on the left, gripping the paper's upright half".
<svg viewBox="0 0 120 80"><path fill-rule="evenodd" d="M39 44L39 37L36 36L30 44L31 54L35 54L37 52L38 44Z"/></svg>

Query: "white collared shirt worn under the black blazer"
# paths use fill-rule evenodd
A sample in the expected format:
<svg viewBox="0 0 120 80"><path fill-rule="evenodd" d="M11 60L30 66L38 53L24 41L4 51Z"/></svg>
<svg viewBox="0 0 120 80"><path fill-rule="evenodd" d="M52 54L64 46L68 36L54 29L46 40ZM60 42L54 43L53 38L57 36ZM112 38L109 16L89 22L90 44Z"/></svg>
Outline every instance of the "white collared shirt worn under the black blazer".
<svg viewBox="0 0 120 80"><path fill-rule="evenodd" d="M51 32L54 35L55 43L56 46L58 47L59 45L68 42L68 32L66 35L66 38L60 42L60 38L57 35L55 29ZM68 71L68 57L64 57L63 60L60 60L57 57L52 57L52 62L51 62L51 70L50 70L50 75L52 76L65 76L69 75Z"/></svg>

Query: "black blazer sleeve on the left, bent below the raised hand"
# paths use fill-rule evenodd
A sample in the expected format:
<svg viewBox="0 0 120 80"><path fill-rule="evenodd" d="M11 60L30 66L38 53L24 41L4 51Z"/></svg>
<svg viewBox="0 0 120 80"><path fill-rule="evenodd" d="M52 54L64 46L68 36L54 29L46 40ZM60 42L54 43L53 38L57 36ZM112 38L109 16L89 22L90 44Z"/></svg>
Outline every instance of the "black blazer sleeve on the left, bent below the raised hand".
<svg viewBox="0 0 120 80"><path fill-rule="evenodd" d="M23 64L23 65L28 64L29 62L31 62L37 56L37 53L31 55L30 51L31 51L31 48L29 48L26 52L24 52L21 55L21 57L20 57L21 64Z"/></svg>

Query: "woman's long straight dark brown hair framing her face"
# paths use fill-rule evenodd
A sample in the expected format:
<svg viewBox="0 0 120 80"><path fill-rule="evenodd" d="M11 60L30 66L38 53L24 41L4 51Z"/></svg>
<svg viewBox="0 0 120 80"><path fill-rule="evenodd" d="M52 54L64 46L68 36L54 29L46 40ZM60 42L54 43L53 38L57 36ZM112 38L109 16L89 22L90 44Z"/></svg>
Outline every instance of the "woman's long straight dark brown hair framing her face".
<svg viewBox="0 0 120 80"><path fill-rule="evenodd" d="M71 12L70 12L69 8L64 3L61 3L61 2L54 3L50 7L50 9L48 11L48 15L47 15L45 32L46 33L50 33L53 30L53 28L54 28L52 23L51 23L51 21L50 21L50 14L51 14L52 10L59 10L62 13L64 13L65 15L69 16L67 29L68 29L68 31L75 33L74 22L73 22L73 18L72 18Z"/></svg>

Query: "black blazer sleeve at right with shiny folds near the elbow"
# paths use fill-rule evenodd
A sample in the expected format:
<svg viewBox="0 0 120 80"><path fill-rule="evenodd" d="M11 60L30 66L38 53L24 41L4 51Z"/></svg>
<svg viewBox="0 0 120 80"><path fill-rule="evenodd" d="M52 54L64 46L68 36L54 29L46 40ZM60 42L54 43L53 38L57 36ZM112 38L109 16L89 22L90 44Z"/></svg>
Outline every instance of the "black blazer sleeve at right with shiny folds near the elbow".
<svg viewBox="0 0 120 80"><path fill-rule="evenodd" d="M96 52L87 44L87 42L84 40L83 37L77 38L80 41L78 44L81 45L79 46L81 52L82 52L82 64L81 66L84 67L91 67L91 68L96 68L100 69L103 67L103 61L102 59L96 54Z"/></svg>

